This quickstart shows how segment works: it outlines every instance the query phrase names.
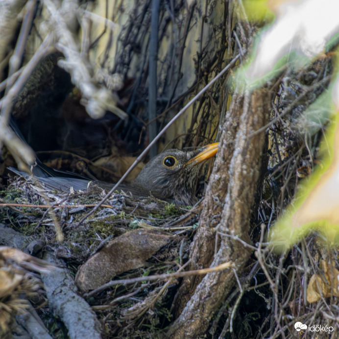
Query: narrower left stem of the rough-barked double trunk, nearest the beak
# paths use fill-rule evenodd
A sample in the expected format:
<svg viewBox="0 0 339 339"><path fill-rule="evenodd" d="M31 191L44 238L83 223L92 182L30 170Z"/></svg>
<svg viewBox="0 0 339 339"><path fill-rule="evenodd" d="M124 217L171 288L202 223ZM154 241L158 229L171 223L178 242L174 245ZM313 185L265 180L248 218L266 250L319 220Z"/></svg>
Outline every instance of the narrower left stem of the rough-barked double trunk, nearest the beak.
<svg viewBox="0 0 339 339"><path fill-rule="evenodd" d="M226 113L222 125L220 138L221 147L210 176L200 216L200 227L197 230L191 245L191 261L189 269L201 269L210 266L215 251L216 227L220 223L227 187L229 183L229 166L234 152L234 140L239 129L242 114L243 96L235 95L230 108ZM223 173L223 175L221 175ZM209 225L208 227L204 225ZM183 280L180 289L174 298L175 313L181 311L190 300L196 286L200 283L201 276L191 276Z"/></svg>

